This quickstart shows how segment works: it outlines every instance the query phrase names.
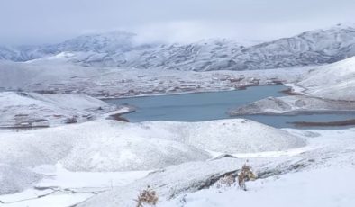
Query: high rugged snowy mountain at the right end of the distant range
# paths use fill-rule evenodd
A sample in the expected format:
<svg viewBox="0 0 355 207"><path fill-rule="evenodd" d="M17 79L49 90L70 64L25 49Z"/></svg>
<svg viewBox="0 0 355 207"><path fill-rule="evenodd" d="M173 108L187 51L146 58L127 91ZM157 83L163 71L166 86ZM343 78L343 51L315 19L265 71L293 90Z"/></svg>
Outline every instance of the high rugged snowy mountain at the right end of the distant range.
<svg viewBox="0 0 355 207"><path fill-rule="evenodd" d="M269 69L332 63L354 55L355 27L338 24L242 49L234 61L236 69Z"/></svg>

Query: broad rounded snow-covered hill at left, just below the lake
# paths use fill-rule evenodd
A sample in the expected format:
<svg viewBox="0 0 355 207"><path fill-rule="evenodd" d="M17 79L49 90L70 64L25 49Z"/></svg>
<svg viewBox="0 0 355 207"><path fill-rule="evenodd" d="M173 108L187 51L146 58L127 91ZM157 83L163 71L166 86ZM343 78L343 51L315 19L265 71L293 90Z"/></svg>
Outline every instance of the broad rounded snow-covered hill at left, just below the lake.
<svg viewBox="0 0 355 207"><path fill-rule="evenodd" d="M55 165L71 171L125 171L154 169L208 154L186 144L131 133L120 121L88 121L19 133L0 131L5 138L0 163L13 166ZM8 150L12 148L13 150Z"/></svg>

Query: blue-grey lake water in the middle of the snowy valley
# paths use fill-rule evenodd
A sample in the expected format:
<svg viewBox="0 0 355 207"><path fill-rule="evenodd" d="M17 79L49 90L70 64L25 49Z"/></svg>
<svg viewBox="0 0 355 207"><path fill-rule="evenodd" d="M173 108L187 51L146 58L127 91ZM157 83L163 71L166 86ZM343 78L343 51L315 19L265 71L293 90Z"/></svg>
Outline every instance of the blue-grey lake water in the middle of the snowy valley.
<svg viewBox="0 0 355 207"><path fill-rule="evenodd" d="M193 94L168 94L118 98L105 100L107 103L129 104L136 112L124 114L132 122L139 121L210 121L231 119L226 112L246 103L258 101L269 96L283 96L280 91L284 85L248 87L246 90L207 92ZM274 127L294 127L292 121L343 121L354 119L354 113L248 115L235 118L248 118Z"/></svg>

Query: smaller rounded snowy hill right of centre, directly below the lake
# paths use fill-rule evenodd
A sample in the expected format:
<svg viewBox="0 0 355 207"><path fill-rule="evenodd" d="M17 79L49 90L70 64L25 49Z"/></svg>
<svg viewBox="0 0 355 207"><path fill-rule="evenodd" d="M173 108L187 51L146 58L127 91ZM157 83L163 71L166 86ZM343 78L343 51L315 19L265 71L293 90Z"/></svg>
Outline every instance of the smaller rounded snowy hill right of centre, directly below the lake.
<svg viewBox="0 0 355 207"><path fill-rule="evenodd" d="M284 130L250 120L153 121L143 124L148 125L152 130L156 130L159 126L159 130L165 130L165 133L172 132L169 136L166 135L166 139L178 140L196 148L223 153L278 151L305 146L303 139L292 136Z"/></svg>

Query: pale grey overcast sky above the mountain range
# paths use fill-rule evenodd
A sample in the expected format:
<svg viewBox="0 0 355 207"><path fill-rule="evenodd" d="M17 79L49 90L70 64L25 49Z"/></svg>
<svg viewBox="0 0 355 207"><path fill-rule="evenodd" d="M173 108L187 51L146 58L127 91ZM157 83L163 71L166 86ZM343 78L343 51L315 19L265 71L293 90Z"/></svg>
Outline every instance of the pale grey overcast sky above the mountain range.
<svg viewBox="0 0 355 207"><path fill-rule="evenodd" d="M144 41L272 40L354 21L355 0L0 0L0 44L114 30Z"/></svg>

